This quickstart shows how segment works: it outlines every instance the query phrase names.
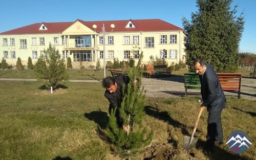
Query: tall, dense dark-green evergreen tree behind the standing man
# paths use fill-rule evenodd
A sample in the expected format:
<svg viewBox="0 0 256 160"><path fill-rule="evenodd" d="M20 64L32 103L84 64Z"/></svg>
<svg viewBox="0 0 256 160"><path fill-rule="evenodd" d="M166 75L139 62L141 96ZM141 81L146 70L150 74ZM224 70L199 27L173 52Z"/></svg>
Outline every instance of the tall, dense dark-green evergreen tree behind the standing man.
<svg viewBox="0 0 256 160"><path fill-rule="evenodd" d="M244 17L236 16L232 0L197 0L199 10L191 14L191 21L182 18L186 64L194 72L193 61L202 58L216 72L236 72L239 42L244 30Z"/></svg>

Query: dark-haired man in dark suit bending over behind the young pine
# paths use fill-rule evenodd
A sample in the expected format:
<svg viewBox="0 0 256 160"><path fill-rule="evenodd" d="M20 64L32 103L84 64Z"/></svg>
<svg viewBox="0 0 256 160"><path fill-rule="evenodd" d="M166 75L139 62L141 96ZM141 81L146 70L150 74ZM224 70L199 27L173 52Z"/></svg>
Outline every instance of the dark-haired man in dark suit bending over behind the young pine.
<svg viewBox="0 0 256 160"><path fill-rule="evenodd" d="M134 81L134 85L138 81L139 79L136 79ZM125 76L122 74L118 74L117 77L115 78L108 76L102 80L102 86L106 88L104 96L110 102L109 113L111 114L111 110L117 107L116 114L115 114L115 117L117 119L117 125L118 127L123 128L125 132L129 132L130 128L127 128L127 126L123 124L123 118L121 117L119 108L121 107L121 103L124 97L122 93L123 84L126 88L129 82L130 82L129 76Z"/></svg>

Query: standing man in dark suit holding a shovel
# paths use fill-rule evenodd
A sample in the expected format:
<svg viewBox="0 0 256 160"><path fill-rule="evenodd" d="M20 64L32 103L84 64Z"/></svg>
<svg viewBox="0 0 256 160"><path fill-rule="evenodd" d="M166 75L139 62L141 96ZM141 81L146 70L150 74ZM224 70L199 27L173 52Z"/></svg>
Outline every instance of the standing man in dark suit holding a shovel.
<svg viewBox="0 0 256 160"><path fill-rule="evenodd" d="M201 82L201 107L207 108L207 138L204 150L211 150L215 141L223 144L221 112L225 108L226 97L214 68L202 59L194 60L194 68Z"/></svg>

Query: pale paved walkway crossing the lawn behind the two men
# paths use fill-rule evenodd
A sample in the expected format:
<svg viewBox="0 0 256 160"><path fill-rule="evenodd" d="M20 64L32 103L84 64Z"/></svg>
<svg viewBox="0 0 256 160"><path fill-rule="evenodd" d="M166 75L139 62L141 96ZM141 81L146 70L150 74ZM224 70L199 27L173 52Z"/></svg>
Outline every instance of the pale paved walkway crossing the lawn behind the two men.
<svg viewBox="0 0 256 160"><path fill-rule="evenodd" d="M0 81L36 81L36 79L0 78ZM70 82L101 82L100 80L70 80ZM184 97L184 77L172 76L166 78L142 78L142 85L146 91L146 97ZM237 98L237 92L224 92L227 97ZM188 96L200 95L200 90L188 89ZM256 79L242 78L241 98L256 100Z"/></svg>

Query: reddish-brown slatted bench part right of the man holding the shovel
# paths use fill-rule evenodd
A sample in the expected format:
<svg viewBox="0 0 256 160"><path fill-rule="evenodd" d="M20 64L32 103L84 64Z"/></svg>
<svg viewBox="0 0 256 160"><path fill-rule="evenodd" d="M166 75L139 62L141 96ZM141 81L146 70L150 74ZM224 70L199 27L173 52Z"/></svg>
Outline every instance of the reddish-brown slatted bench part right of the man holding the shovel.
<svg viewBox="0 0 256 160"><path fill-rule="evenodd" d="M240 99L242 74L239 73L217 73L222 90L235 90Z"/></svg>

